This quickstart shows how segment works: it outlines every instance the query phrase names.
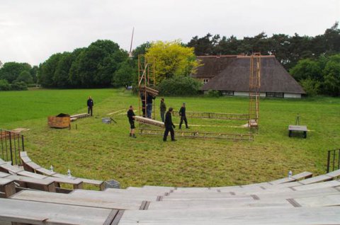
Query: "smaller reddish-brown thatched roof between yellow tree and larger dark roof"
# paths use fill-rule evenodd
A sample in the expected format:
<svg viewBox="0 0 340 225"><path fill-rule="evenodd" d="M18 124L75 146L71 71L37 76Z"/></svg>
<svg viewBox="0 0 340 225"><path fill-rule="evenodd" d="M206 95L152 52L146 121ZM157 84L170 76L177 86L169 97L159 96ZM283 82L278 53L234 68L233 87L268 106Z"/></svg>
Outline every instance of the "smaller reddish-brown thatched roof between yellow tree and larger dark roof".
<svg viewBox="0 0 340 225"><path fill-rule="evenodd" d="M196 58L203 66L198 67L196 74L191 76L194 78L212 79L212 77L217 76L222 70L227 68L236 57L237 55L198 56Z"/></svg>

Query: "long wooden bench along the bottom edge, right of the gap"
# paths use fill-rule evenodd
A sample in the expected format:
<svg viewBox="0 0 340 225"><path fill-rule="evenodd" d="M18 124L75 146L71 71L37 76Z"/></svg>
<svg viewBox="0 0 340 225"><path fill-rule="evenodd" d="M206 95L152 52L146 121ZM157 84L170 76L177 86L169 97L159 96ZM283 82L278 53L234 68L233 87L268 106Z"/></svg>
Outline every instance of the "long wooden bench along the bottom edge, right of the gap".
<svg viewBox="0 0 340 225"><path fill-rule="evenodd" d="M336 224L340 207L128 210L119 225Z"/></svg>

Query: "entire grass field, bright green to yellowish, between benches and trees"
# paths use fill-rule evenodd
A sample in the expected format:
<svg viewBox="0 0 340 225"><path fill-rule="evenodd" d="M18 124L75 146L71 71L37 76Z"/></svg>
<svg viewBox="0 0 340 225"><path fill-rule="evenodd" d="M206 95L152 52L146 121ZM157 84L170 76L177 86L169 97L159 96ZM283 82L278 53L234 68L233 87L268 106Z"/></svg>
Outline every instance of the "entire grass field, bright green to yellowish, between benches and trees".
<svg viewBox="0 0 340 225"><path fill-rule="evenodd" d="M85 113L94 98L94 117L77 120L72 129L50 129L47 116ZM0 92L0 127L29 128L26 150L41 166L84 178L115 179L130 185L222 186L258 183L293 173L325 172L327 150L340 145L340 98L261 99L260 128L254 142L186 139L163 142L162 137L128 137L125 115L137 96L118 89L35 90ZM159 105L159 98L156 100ZM248 98L166 98L167 107L188 111L247 113ZM108 113L117 124L101 122ZM157 109L158 113L158 109ZM136 113L138 114L138 113ZM288 137L288 125L301 124L307 139ZM159 118L159 115L157 115ZM179 122L179 118L174 118ZM246 134L246 122L190 119L191 130ZM77 125L77 129L75 129ZM178 127L178 126L177 126ZM176 129L177 129L176 127ZM175 129L175 132L176 132Z"/></svg>

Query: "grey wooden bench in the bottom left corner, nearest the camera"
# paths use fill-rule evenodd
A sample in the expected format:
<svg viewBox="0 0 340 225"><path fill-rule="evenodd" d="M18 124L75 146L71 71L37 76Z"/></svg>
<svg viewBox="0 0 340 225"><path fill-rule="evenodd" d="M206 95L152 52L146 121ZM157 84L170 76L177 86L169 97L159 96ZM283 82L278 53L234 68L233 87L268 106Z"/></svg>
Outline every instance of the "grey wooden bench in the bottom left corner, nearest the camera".
<svg viewBox="0 0 340 225"><path fill-rule="evenodd" d="M118 210L0 199L0 221L22 224L111 224Z"/></svg>

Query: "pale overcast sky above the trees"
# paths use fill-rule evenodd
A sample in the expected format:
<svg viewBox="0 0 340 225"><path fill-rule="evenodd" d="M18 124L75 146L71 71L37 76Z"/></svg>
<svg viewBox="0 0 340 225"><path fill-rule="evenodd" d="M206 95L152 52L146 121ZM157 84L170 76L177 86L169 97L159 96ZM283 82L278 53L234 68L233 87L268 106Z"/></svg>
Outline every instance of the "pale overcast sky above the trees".
<svg viewBox="0 0 340 225"><path fill-rule="evenodd" d="M39 64L98 39L130 49L207 33L319 35L340 21L339 0L0 0L0 61Z"/></svg>

